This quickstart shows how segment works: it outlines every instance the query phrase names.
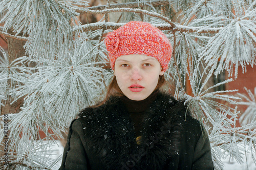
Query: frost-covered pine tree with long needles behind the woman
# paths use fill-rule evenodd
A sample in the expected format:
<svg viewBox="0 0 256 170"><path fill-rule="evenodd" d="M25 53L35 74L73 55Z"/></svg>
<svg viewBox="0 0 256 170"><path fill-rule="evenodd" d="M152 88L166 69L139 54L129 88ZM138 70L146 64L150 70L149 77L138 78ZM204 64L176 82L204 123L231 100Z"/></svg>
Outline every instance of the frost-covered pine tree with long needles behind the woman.
<svg viewBox="0 0 256 170"><path fill-rule="evenodd" d="M165 77L175 84L174 96L185 99L203 123L215 168L222 169L221 158L227 156L246 162L247 152L256 160L254 96L250 91L249 97L240 94L247 100L241 102L229 95L237 90L216 90L231 78L211 83L223 71L238 78L239 66L246 72L247 65L256 64L255 1L88 4L83 0L0 1L0 34L8 38L9 48L9 55L0 48L0 141L4 144L7 139L8 144L8 152L5 145L1 147L1 169L51 169L61 159L49 159L54 136L62 137L81 109L99 101L111 79L112 71L105 69L109 63L104 35L130 20L150 22L172 42L173 57ZM82 25L77 17L82 14L102 18ZM241 127L236 125L237 107L222 101L249 106ZM40 138L39 131L46 137Z"/></svg>

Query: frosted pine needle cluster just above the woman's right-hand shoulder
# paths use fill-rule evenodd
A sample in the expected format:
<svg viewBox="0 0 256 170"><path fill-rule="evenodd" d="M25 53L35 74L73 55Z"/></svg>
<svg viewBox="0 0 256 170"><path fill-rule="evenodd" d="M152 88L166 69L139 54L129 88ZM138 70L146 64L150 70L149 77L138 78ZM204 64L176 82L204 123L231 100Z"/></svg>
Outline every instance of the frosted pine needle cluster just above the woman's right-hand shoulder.
<svg viewBox="0 0 256 170"><path fill-rule="evenodd" d="M191 113L203 124L211 123L219 125L220 122L224 124L230 123L225 114L232 116L234 109L228 105L223 104L223 101L236 104L239 97L228 95L229 92L236 92L237 90L223 90L215 91L214 88L221 86L221 84L228 83L232 79L227 79L221 83L209 86L208 83L213 75L212 71L204 68L200 71L201 63L197 63L194 72L190 76L190 86L193 95L185 94L184 98L188 102ZM225 114L220 114L223 112ZM236 115L233 115L236 117ZM227 121L227 122L225 122Z"/></svg>

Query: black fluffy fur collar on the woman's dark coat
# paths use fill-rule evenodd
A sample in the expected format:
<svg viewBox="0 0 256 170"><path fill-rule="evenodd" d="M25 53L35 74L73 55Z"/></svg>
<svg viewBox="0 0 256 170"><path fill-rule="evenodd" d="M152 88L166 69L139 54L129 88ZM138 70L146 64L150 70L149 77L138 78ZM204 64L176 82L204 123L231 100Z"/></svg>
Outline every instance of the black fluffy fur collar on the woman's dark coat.
<svg viewBox="0 0 256 170"><path fill-rule="evenodd" d="M124 104L113 98L83 110L87 145L108 169L163 169L179 152L184 102L159 93L145 113L141 144Z"/></svg>

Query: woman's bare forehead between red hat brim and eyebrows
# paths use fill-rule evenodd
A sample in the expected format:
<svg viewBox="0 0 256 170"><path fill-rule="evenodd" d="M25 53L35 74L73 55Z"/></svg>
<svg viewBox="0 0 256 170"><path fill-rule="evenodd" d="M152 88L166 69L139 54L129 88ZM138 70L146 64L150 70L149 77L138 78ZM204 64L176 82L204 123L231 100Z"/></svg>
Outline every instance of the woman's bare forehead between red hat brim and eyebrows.
<svg viewBox="0 0 256 170"><path fill-rule="evenodd" d="M129 54L129 55L121 55L116 59L116 61L144 61L144 60L155 60L158 61L155 57L142 55L142 54Z"/></svg>

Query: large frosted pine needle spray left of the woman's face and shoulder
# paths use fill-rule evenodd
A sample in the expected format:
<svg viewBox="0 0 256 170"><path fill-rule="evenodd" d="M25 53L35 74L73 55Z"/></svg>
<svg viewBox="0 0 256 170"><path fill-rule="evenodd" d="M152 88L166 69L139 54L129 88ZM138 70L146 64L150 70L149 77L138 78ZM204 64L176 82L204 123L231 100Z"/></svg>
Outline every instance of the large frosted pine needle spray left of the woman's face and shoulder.
<svg viewBox="0 0 256 170"><path fill-rule="evenodd" d="M30 74L20 72L19 77L15 77L20 84L11 90L10 94L15 94L17 98L25 98L22 110L18 114L8 114L10 120L8 142L10 151L13 151L10 154L15 154L14 151L24 154L19 146L29 140L40 138L40 131L44 132L46 137L40 138L39 141L53 140L56 136L62 137L60 131L66 131L65 128L77 113L94 104L95 99L104 91L104 81L110 74L99 67L102 62L95 62L91 57L98 51L92 52L87 48L94 50L97 46L91 48L85 42L80 42L70 54L69 61L61 59L54 62L38 61L38 65L34 68L36 72ZM20 78L25 75L26 78ZM3 129L0 132L2 131ZM3 139L3 134L1 133L0 140ZM22 138L19 135L22 135ZM31 156L33 159L31 158L30 163L33 163L32 160L36 157ZM47 159L46 156L42 158ZM37 164L30 163L28 164L31 167L37 167Z"/></svg>

